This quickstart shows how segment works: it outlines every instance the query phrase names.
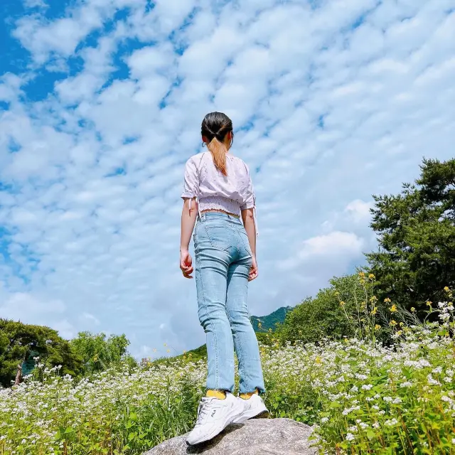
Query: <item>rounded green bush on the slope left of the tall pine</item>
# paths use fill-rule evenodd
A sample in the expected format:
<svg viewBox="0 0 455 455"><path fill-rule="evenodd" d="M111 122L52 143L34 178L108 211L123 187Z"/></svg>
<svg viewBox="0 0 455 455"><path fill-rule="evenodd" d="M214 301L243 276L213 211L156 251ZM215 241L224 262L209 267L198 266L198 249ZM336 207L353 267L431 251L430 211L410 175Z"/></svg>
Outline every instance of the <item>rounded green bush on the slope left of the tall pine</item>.
<svg viewBox="0 0 455 455"><path fill-rule="evenodd" d="M321 289L314 299L305 299L290 311L277 330L282 341L317 343L323 338L353 336L355 326L346 319L355 314L356 299L359 299L359 284L356 275L333 278L331 286ZM346 305L341 306L340 302Z"/></svg>

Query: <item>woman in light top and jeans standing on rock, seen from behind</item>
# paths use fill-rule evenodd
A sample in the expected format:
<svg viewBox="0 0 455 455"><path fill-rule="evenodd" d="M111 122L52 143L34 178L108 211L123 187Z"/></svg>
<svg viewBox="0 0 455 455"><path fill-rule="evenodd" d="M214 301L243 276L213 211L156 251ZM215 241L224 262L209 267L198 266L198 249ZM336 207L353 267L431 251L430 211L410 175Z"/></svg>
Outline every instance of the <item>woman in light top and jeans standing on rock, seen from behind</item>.
<svg viewBox="0 0 455 455"><path fill-rule="evenodd" d="M247 309L248 282L257 278L255 194L246 164L229 153L232 122L207 114L201 127L208 151L192 156L182 194L180 268L192 278L188 244L194 232L199 321L207 334L207 394L188 444L212 439L230 423L267 412L257 338ZM240 221L242 215L243 224ZM234 390L234 349L240 397Z"/></svg>

